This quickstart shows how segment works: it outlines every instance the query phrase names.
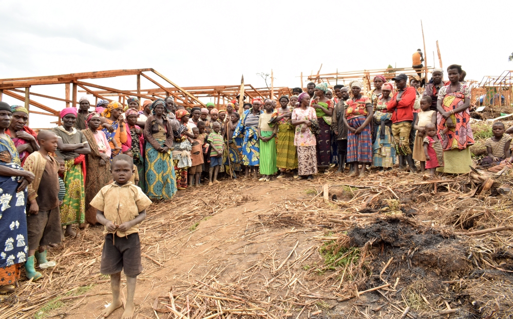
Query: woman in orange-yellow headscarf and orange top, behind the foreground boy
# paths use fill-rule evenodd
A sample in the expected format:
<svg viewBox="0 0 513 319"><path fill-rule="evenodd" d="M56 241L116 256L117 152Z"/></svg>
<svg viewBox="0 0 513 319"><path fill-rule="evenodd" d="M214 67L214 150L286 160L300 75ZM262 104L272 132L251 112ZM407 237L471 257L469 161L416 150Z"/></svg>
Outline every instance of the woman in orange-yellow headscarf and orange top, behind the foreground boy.
<svg viewBox="0 0 513 319"><path fill-rule="evenodd" d="M110 145L110 158L121 154L122 144L126 143L125 120L121 116L122 113L123 105L112 101L101 114L103 116L101 127Z"/></svg>

